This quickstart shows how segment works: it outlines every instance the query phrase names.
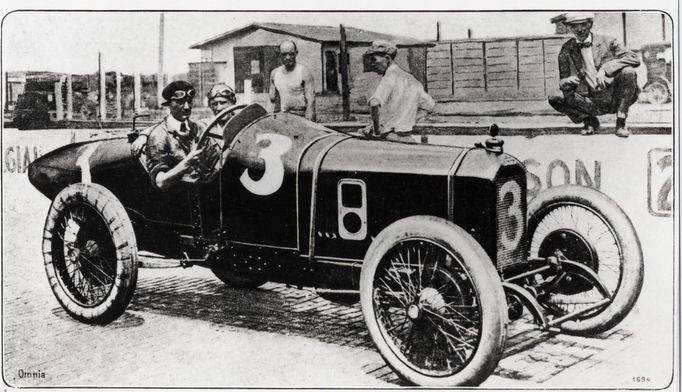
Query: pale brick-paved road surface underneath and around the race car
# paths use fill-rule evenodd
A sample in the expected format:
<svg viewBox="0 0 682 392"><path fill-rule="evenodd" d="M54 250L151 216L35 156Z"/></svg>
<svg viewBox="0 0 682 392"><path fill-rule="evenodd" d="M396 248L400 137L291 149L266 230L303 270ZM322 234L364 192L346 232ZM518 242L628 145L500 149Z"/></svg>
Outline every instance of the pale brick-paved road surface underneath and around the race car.
<svg viewBox="0 0 682 392"><path fill-rule="evenodd" d="M401 385L375 351L359 306L335 305L281 284L235 290L198 267L141 270L128 311L107 326L70 319L42 268L47 200L6 178L3 375L11 386ZM655 257L647 260L665 266ZM672 301L665 288L672 277L665 268L650 270L633 314L601 336L542 333L527 320L512 324L504 358L483 386L666 386ZM637 376L645 381L636 382Z"/></svg>

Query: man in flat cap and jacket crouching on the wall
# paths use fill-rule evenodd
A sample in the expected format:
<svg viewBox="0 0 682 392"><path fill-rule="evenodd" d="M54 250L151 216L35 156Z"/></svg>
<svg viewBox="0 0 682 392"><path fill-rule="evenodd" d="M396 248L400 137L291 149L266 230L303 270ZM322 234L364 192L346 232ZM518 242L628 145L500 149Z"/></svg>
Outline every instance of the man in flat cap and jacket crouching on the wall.
<svg viewBox="0 0 682 392"><path fill-rule="evenodd" d="M628 137L625 121L639 95L634 70L639 58L615 38L592 33L593 19L590 12L566 14L563 23L575 38L559 52L562 95L549 97L549 103L574 123L582 122L583 135L599 129L597 116L615 113L616 136Z"/></svg>

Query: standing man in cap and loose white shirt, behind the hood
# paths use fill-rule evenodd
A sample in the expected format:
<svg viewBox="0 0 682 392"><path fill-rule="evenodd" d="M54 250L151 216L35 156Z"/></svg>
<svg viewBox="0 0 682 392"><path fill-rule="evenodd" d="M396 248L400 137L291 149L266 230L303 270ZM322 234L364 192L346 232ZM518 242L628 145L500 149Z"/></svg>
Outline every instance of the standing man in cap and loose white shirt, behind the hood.
<svg viewBox="0 0 682 392"><path fill-rule="evenodd" d="M372 71L382 75L376 91L369 99L372 122L361 132L367 136L413 142L412 127L433 111L435 102L414 76L395 63L395 45L374 41L365 52L370 56Z"/></svg>

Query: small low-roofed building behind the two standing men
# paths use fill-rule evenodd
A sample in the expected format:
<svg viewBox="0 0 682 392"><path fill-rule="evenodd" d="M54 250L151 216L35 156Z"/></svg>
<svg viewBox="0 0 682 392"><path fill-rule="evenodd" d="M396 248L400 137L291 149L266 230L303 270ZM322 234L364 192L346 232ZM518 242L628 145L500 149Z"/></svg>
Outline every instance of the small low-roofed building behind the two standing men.
<svg viewBox="0 0 682 392"><path fill-rule="evenodd" d="M433 44L409 37L345 27L348 47L348 84L351 110L362 109L380 77L364 72L363 53L374 40L388 40L398 47L396 61L426 87L426 52ZM318 106L338 107L342 90L340 71L340 28L283 23L253 23L198 42L190 49L201 50L201 62L190 63L188 78L204 95L213 83L226 82L244 93L250 80L254 97L264 101L270 88L270 73L281 63L279 44L292 40L298 48L298 62L305 64L315 79ZM260 96L259 96L260 95ZM329 97L329 99L324 99ZM366 108L364 108L366 109Z"/></svg>

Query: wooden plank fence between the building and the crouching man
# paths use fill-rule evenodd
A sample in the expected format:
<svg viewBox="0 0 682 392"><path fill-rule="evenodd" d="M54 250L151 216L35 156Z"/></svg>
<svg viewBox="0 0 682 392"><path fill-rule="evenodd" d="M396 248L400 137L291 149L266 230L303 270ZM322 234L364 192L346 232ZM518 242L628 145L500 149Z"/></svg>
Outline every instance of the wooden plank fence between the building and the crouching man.
<svg viewBox="0 0 682 392"><path fill-rule="evenodd" d="M544 100L558 92L565 35L439 42L429 48L428 91L441 99Z"/></svg>

